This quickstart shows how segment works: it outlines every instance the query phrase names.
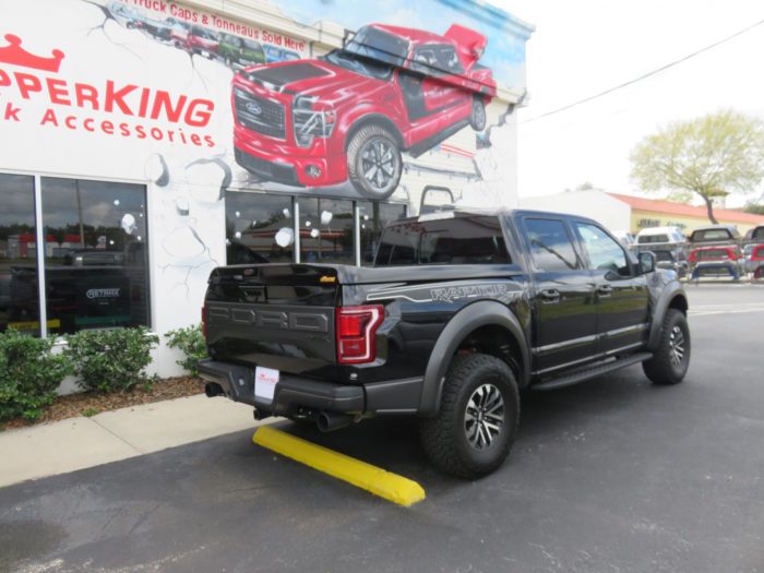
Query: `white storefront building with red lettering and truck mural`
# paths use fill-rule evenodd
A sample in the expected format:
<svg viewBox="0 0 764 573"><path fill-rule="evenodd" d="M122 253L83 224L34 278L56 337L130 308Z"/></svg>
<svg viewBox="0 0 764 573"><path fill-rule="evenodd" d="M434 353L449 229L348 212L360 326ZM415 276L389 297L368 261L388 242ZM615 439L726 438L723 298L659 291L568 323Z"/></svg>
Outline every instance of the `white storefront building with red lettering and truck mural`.
<svg viewBox="0 0 764 573"><path fill-rule="evenodd" d="M516 204L533 27L490 5L0 13L0 330L164 334L199 322L217 265L369 264L398 217ZM154 370L175 358L163 343Z"/></svg>

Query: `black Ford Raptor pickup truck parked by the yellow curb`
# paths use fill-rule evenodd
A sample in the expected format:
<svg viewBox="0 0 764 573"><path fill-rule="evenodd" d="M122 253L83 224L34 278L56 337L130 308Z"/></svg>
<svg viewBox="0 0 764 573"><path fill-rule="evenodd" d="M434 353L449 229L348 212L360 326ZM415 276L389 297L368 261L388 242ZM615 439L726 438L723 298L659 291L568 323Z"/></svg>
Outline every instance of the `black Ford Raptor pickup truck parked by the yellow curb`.
<svg viewBox="0 0 764 573"><path fill-rule="evenodd" d="M208 396L333 430L420 418L431 462L475 478L501 465L520 391L642 363L676 384L690 361L688 299L650 252L594 220L449 212L387 227L374 266L250 264L210 276Z"/></svg>

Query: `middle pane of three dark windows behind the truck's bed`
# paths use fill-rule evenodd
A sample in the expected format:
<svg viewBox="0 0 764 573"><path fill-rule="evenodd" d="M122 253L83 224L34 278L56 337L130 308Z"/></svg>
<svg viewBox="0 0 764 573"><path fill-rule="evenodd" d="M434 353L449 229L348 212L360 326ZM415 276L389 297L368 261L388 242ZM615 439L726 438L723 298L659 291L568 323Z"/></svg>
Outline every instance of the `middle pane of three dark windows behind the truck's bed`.
<svg viewBox="0 0 764 573"><path fill-rule="evenodd" d="M353 201L300 198L300 261L356 264Z"/></svg>

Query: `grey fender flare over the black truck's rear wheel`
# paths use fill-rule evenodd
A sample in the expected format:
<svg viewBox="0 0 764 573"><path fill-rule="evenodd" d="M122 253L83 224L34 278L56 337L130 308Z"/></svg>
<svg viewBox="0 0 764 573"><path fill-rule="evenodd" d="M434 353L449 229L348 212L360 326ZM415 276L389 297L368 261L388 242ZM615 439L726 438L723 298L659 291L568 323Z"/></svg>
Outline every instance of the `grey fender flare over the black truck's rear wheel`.
<svg viewBox="0 0 764 573"><path fill-rule="evenodd" d="M432 348L430 360L425 371L419 413L423 416L434 416L440 409L441 393L445 373L451 365L451 357L464 338L481 326L501 326L509 331L521 349L521 356L515 357L518 365L520 387L528 384L530 372L530 356L523 326L512 311L501 302L481 300L473 302L459 310L445 325L438 342Z"/></svg>

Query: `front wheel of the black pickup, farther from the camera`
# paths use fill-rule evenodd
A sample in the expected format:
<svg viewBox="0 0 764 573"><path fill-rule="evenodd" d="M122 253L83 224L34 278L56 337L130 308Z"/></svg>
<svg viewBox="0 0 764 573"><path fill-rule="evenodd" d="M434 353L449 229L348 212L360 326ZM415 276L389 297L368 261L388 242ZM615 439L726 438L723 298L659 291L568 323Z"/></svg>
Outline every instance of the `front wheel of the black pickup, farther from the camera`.
<svg viewBox="0 0 764 573"><path fill-rule="evenodd" d="M690 366L690 329L684 314L676 309L666 312L660 342L653 358L642 362L642 370L654 383L679 384Z"/></svg>

